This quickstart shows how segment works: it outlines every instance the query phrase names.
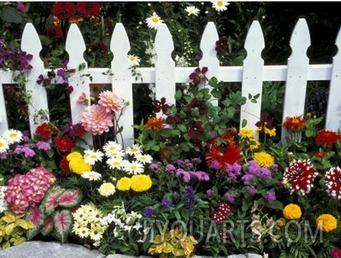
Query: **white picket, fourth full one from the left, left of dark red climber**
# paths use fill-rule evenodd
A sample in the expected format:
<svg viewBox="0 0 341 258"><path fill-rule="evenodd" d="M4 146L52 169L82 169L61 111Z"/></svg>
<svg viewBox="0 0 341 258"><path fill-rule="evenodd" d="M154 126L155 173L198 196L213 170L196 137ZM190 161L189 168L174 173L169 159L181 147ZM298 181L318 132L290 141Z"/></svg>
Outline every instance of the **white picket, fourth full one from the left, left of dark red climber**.
<svg viewBox="0 0 341 258"><path fill-rule="evenodd" d="M166 98L167 103L175 104L175 62L172 59L174 43L166 24L157 29L154 49L157 54L155 61L155 98Z"/></svg>

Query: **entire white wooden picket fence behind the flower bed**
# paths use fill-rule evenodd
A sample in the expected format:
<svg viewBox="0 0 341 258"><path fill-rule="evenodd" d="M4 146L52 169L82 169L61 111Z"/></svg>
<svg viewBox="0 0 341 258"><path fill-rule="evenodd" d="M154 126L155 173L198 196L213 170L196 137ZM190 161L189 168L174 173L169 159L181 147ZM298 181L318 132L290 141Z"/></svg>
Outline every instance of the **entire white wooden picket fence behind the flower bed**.
<svg viewBox="0 0 341 258"><path fill-rule="evenodd" d="M285 81L285 100L283 107L283 120L288 116L303 115L305 107L305 93L307 81L330 81L330 96L327 104L327 118L325 127L328 130L341 128L341 103L339 101L341 93L341 56L338 52L331 64L309 64L307 50L310 46L310 32L305 19L299 19L295 25L290 38L290 47L292 54L288 58L288 64L282 66L264 66L261 58L261 51L265 48L263 32L258 21L253 21L248 31L245 49L247 51L243 66L219 66L219 60L216 58L215 43L219 40L219 35L214 23L209 22L201 37L200 48L202 58L199 61L199 67L208 67L206 73L208 78L215 76L218 81L241 82L241 91L243 96L249 93L256 95L262 93L264 81ZM337 35L336 46L341 46L341 33ZM189 74L196 67L176 67L171 57L174 51L172 35L167 26L162 24L157 31L154 41L154 48L157 53L157 61L154 67L141 67L138 71L141 73L143 83L154 83L156 99L165 97L167 102L174 103L175 83L189 83ZM21 50L33 54L31 65L33 70L28 73L28 83L26 91L32 92L32 104L30 113L36 110L48 109L48 102L45 88L36 83L40 74L46 76L47 71L43 67L43 61L39 56L41 51L41 41L32 24L26 24L23 31ZM80 63L86 63L83 57L85 52L85 43L78 26L72 24L68 31L65 44L65 50L69 55L68 68L78 68ZM105 75L108 68L88 68L84 71L76 72L69 78L70 85L74 91L70 94L70 106L73 123L80 122L83 112L83 105L77 103L78 97L85 92L90 96L89 79L81 77L81 73L91 74L93 80L91 83L109 83L112 85L112 91L132 103L132 87L135 81L132 77L130 63L127 60L127 54L130 51L130 41L122 24L116 24L112 33L110 50L113 53L111 62L112 74ZM0 70L0 86L5 83L13 83L11 73ZM217 101L215 100L215 103ZM241 113L241 120L248 121L247 127L256 129L255 123L259 120L261 114L261 99L258 103L245 105ZM8 129L6 119L5 100L2 86L0 87L0 115L3 120L0 123L0 133ZM30 118L31 132L35 131L36 124L33 118ZM133 137L133 108L129 105L120 120L123 126L123 142L125 146L132 145ZM285 131L282 131L282 140L285 138ZM91 143L91 135L85 136L85 140Z"/></svg>

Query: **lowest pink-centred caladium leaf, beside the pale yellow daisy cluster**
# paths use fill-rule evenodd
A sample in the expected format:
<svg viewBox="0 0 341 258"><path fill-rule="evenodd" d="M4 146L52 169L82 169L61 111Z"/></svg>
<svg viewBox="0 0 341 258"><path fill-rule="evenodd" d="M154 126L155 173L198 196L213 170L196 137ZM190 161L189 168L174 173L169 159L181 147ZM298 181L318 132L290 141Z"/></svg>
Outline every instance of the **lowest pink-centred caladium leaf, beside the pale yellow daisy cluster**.
<svg viewBox="0 0 341 258"><path fill-rule="evenodd" d="M70 228L73 224L73 217L70 210L63 209L53 214L53 236L62 243L67 242Z"/></svg>

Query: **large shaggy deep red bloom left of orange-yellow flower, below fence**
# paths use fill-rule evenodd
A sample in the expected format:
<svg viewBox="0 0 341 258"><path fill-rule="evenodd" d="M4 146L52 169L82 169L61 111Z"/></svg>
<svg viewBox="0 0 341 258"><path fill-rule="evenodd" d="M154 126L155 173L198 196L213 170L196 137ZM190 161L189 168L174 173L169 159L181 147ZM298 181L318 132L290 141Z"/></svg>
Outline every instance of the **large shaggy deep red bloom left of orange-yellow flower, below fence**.
<svg viewBox="0 0 341 258"><path fill-rule="evenodd" d="M218 144L221 143L221 144ZM241 161L241 149L234 141L234 136L226 133L214 138L206 156L207 165L216 161L219 169L226 169L227 165L233 165Z"/></svg>

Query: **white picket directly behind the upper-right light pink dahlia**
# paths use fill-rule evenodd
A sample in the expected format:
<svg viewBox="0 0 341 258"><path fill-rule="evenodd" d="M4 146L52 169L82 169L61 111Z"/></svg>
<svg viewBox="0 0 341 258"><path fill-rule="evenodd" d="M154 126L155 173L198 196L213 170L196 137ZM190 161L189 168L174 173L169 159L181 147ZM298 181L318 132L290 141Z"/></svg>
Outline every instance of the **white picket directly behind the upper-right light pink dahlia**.
<svg viewBox="0 0 341 258"><path fill-rule="evenodd" d="M132 71L127 58L130 51L130 42L123 24L117 23L115 25L110 41L110 50L114 56L111 62L111 72L113 73L112 92L123 100L130 102L130 105L124 108L118 122L123 127L122 142L120 144L128 147L133 143L134 128L132 128L132 124L134 123L134 113L132 106Z"/></svg>

